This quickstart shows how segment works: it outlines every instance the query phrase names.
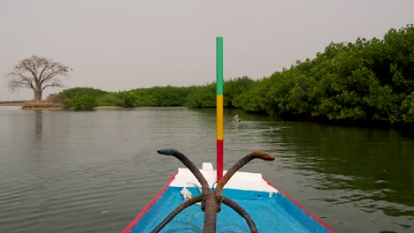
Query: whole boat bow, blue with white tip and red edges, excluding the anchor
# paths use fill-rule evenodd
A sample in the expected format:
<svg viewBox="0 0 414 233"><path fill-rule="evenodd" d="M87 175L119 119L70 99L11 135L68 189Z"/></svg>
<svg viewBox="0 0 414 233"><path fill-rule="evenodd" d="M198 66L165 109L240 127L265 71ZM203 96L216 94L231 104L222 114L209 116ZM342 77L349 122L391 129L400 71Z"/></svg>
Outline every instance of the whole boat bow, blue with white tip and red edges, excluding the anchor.
<svg viewBox="0 0 414 233"><path fill-rule="evenodd" d="M211 177L213 182L214 170L203 170L204 177ZM178 175L177 175L178 174ZM181 174L181 176L180 176ZM170 181L145 207L135 220L123 231L124 233L150 232L162 222L176 207L184 202L181 191L186 186L193 197L200 194L196 187L188 187L183 183L189 178L191 183L195 177L188 169L170 178ZM210 174L210 175L209 175ZM250 177L253 177L249 180ZM299 205L287 194L277 190L272 184L263 179L258 173L238 172L228 186L223 189L223 195L233 199L250 215L257 226L258 232L334 232L324 222ZM209 180L209 179L208 179ZM246 187L240 184L246 184ZM195 184L195 183L193 183ZM253 185L252 185L253 184ZM242 188L234 188L242 187ZM254 190L254 188L258 190ZM175 216L161 232L203 232L204 213L200 205L193 205ZM222 204L221 212L217 214L217 232L250 232L247 222L234 210Z"/></svg>

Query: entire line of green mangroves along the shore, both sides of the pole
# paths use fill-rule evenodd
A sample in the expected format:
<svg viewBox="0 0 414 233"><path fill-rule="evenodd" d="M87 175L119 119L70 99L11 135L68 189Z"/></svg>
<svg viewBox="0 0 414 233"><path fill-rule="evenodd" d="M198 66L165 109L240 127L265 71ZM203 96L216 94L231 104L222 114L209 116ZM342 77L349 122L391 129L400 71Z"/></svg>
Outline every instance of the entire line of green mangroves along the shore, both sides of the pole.
<svg viewBox="0 0 414 233"><path fill-rule="evenodd" d="M224 106L285 119L414 123L414 26L391 29L384 39L331 42L314 59L253 80L227 79ZM108 93L73 88L58 94L68 106L216 106L215 83L154 86ZM93 104L92 104L93 105Z"/></svg>

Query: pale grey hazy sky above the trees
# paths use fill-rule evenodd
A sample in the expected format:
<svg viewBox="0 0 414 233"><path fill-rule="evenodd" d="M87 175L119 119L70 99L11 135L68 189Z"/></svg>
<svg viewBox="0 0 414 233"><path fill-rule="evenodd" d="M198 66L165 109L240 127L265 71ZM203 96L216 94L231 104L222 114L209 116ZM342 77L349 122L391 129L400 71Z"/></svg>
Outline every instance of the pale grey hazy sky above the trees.
<svg viewBox="0 0 414 233"><path fill-rule="evenodd" d="M5 79L33 55L72 67L66 88L203 85L216 79L216 36L225 79L260 79L331 41L382 38L410 23L413 0L0 0L0 101L33 98Z"/></svg>

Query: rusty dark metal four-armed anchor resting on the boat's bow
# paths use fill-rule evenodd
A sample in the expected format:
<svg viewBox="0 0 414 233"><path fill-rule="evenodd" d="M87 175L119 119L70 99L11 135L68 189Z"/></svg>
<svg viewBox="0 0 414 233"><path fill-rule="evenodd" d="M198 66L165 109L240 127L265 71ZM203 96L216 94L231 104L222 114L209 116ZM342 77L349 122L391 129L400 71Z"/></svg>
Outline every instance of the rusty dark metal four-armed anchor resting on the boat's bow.
<svg viewBox="0 0 414 233"><path fill-rule="evenodd" d="M206 179L203 177L203 174L199 169L196 168L193 162L188 160L186 155L180 153L174 149L163 149L158 150L158 154L173 155L175 158L179 159L180 162L184 163L186 167L196 176L198 182L202 185L201 195L196 196L195 198L188 199L186 202L182 203L179 207L175 208L171 214L169 214L163 222L159 223L151 233L157 233L165 227L165 225L172 221L173 218L179 214L182 210L187 207L190 207L197 202L202 202L202 211L204 212L204 224L203 224L203 233L215 233L216 232L216 220L217 213L221 211L221 203L224 203L226 206L231 207L234 211L241 215L249 225L251 232L257 233L257 228L255 222L251 219L249 214L232 199L228 199L223 196L222 191L224 185L227 181L234 175L234 173L241 169L246 163L250 162L253 159L261 159L265 161L273 161L274 157L264 152L254 151L246 156L244 156L240 161L236 162L231 169L229 169L226 174L219 180L217 188L215 191L209 189L209 184Z"/></svg>

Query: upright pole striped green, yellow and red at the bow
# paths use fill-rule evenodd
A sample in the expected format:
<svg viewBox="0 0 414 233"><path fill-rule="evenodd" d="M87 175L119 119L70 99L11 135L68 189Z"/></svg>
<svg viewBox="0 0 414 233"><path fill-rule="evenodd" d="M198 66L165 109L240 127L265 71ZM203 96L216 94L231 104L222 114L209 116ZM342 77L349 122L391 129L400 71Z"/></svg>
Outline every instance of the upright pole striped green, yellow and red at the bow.
<svg viewBox="0 0 414 233"><path fill-rule="evenodd" d="M223 177L223 37L216 37L217 180Z"/></svg>

